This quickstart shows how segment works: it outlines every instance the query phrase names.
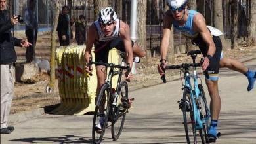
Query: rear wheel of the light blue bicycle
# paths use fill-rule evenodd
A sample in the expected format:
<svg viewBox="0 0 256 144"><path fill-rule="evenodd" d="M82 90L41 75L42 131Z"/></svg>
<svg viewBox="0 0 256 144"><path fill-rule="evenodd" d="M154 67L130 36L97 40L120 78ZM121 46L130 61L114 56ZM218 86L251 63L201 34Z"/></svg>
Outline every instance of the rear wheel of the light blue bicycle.
<svg viewBox="0 0 256 144"><path fill-rule="evenodd" d="M207 105L207 100L205 97L205 92L203 90L203 86L200 84L198 85L198 88L200 88L200 118L202 121L205 121L205 123L203 123L203 129L200 130L200 137L202 140L202 143L208 143L207 141L207 134L208 134L208 130L210 128L210 122L211 122L211 114L209 111L209 107Z"/></svg>

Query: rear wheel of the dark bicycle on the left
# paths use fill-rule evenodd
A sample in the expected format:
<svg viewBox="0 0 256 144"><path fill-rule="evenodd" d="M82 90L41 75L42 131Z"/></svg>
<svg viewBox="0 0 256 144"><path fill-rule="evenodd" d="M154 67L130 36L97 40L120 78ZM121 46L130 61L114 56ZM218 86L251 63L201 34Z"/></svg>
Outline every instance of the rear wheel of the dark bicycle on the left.
<svg viewBox="0 0 256 144"><path fill-rule="evenodd" d="M117 90L117 94L119 96L119 100L128 99L128 84L126 81L122 81ZM123 103L116 105L113 107L114 115L111 126L111 134L112 139L116 141L121 135L121 131L123 130L123 124L125 124L125 116L127 112L127 107Z"/></svg>

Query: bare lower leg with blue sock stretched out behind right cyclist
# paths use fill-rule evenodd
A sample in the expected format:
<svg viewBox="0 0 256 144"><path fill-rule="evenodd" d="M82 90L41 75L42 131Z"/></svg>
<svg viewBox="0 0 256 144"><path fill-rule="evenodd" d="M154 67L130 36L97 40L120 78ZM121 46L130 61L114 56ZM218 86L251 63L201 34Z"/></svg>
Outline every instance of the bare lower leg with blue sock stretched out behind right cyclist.
<svg viewBox="0 0 256 144"><path fill-rule="evenodd" d="M247 90L250 91L251 89L253 89L253 86L254 86L254 83L256 80L255 71L251 71L250 69L245 67L245 65L243 63L239 62L238 60L231 59L231 58L221 58L220 65L221 65L221 67L227 67L229 69L232 69L233 71L238 71L238 72L244 74L249 81Z"/></svg>

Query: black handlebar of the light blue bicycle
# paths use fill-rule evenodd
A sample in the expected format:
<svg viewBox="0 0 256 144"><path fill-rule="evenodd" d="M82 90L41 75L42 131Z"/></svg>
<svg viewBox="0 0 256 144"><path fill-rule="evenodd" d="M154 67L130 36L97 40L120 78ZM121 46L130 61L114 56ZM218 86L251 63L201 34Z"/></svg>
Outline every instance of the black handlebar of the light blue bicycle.
<svg viewBox="0 0 256 144"><path fill-rule="evenodd" d="M181 65L167 65L164 69L163 69L162 65L161 65L161 67L164 72L166 69L182 69L182 68L186 69L189 67L200 67L203 64L203 61L204 61L203 58L201 58L199 63L182 63ZM205 77L207 79L209 79L209 74L207 73L207 71L203 71L203 73L204 73ZM161 76L161 79L163 80L163 83L167 82L165 79L165 74L163 74Z"/></svg>

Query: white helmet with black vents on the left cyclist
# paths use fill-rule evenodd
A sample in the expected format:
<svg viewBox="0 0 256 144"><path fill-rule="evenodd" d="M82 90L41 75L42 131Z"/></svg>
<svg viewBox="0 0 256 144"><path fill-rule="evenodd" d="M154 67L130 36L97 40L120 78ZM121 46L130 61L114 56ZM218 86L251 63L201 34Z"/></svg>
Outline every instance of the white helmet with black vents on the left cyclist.
<svg viewBox="0 0 256 144"><path fill-rule="evenodd" d="M98 14L98 22L102 24L110 24L116 20L116 12L112 7L105 7L104 9L100 10Z"/></svg>

